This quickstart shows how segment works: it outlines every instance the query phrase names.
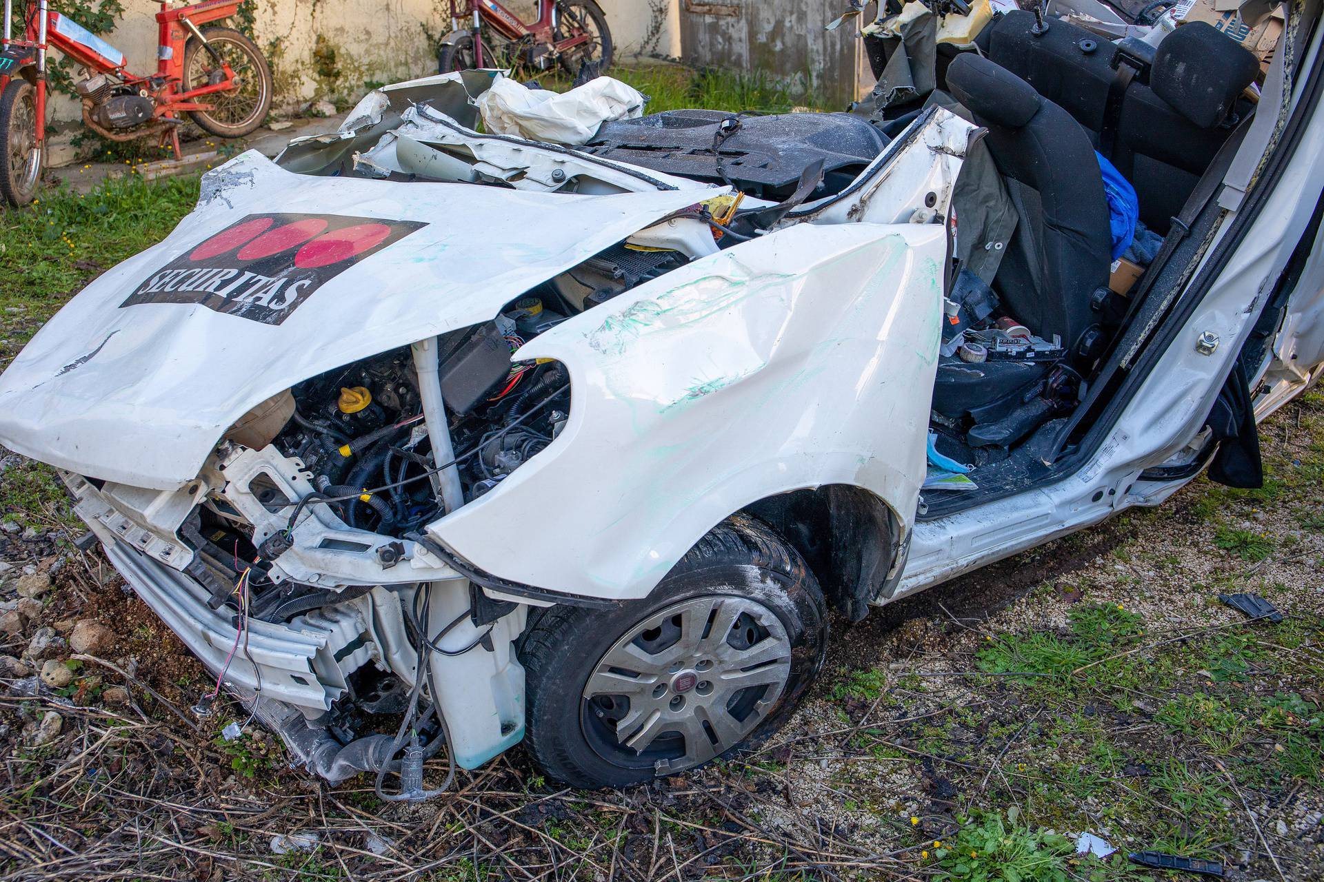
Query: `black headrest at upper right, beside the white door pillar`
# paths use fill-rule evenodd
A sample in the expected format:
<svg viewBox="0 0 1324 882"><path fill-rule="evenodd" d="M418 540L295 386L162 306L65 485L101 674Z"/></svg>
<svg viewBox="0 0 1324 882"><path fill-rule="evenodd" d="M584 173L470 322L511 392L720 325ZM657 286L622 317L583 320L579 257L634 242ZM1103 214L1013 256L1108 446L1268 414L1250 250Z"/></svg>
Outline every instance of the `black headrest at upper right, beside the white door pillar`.
<svg viewBox="0 0 1324 882"><path fill-rule="evenodd" d="M1237 97L1259 73L1255 56L1213 25L1192 21L1158 44L1149 87L1201 128L1227 119Z"/></svg>

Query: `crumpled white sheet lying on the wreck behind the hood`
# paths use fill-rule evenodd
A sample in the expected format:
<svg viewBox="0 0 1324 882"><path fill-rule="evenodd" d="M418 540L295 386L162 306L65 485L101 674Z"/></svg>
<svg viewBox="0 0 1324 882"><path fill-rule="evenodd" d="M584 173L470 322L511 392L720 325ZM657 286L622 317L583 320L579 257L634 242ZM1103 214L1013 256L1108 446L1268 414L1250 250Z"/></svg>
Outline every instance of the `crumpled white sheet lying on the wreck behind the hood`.
<svg viewBox="0 0 1324 882"><path fill-rule="evenodd" d="M555 93L498 77L478 97L489 132L552 144L587 144L602 123L638 119L647 99L612 77L598 77L569 91Z"/></svg>

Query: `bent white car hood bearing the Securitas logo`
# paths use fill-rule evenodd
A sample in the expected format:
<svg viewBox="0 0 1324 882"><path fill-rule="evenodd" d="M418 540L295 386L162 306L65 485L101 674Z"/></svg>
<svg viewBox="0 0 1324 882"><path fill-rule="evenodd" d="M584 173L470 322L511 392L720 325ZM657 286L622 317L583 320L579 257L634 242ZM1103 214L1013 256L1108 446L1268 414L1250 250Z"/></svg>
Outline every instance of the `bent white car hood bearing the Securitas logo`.
<svg viewBox="0 0 1324 882"><path fill-rule="evenodd" d="M695 201L318 179L257 152L81 291L0 376L0 443L169 489L295 382L491 319L512 298Z"/></svg>

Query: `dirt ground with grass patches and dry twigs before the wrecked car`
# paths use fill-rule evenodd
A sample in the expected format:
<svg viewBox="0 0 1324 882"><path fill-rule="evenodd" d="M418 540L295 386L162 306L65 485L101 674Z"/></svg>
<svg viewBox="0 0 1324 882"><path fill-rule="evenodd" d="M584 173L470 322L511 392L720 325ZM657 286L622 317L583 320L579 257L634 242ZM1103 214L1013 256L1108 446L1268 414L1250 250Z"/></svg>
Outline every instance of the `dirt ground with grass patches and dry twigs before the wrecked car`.
<svg viewBox="0 0 1324 882"><path fill-rule="evenodd" d="M1263 438L1260 491L1201 479L834 621L825 676L756 754L575 792L516 747L421 805L327 787L252 725L224 741L236 705L196 718L203 668L9 455L0 879L1156 878L1141 850L1324 878L1324 395ZM1076 856L1082 832L1119 852Z"/></svg>

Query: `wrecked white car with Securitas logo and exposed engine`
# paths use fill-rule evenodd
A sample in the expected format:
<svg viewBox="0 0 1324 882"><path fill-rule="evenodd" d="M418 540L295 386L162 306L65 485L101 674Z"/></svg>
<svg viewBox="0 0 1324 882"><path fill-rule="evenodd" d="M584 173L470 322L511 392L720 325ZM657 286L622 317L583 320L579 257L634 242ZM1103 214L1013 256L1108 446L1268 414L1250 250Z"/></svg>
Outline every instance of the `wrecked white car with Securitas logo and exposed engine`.
<svg viewBox="0 0 1324 882"><path fill-rule="evenodd" d="M1324 361L1324 62L1287 21L1258 104L1211 28L1131 79L1132 286L1088 107L1045 94L1108 103L1116 44L1068 21L994 20L957 112L567 147L477 131L493 71L388 87L208 173L4 373L0 442L323 778L421 799L442 744L520 741L583 787L692 768L788 718L830 611L1255 480Z"/></svg>

